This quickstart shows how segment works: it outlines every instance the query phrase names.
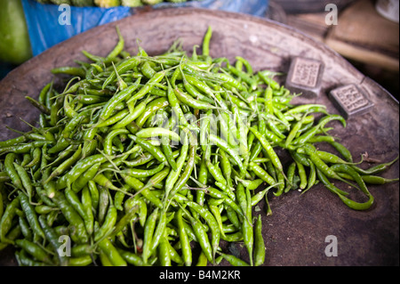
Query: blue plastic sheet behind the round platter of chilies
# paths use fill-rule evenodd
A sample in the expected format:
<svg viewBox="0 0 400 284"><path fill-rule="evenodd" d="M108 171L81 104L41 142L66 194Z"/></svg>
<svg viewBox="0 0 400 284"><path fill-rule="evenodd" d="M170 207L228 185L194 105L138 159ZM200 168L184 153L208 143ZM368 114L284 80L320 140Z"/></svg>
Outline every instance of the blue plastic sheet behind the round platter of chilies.
<svg viewBox="0 0 400 284"><path fill-rule="evenodd" d="M57 45L69 37L74 37L90 28L132 15L135 9L130 7L75 7L69 11L59 5L39 4L35 0L22 0L30 44L34 56ZM268 9L268 0L202 0L179 4L164 2L153 6L154 9L193 7L228 12L244 12L254 16L264 16Z"/></svg>

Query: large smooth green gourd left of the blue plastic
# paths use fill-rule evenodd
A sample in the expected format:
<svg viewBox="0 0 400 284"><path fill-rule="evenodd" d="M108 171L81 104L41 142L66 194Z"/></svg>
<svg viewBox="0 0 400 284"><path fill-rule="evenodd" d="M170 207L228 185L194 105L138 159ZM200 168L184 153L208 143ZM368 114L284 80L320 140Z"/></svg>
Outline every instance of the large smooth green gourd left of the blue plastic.
<svg viewBox="0 0 400 284"><path fill-rule="evenodd" d="M32 57L20 0L0 0L0 61L20 64Z"/></svg>

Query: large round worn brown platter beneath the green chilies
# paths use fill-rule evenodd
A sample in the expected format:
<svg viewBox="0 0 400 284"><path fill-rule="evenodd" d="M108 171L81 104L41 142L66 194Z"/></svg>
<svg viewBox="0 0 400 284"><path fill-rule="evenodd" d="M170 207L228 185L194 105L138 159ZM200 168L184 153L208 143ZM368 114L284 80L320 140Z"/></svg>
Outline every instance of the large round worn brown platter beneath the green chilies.
<svg viewBox="0 0 400 284"><path fill-rule="evenodd" d="M333 124L333 134L341 138L355 157L367 152L371 158L388 161L398 155L398 101L340 55L276 22L244 14L192 9L143 12L93 28L13 70L0 82L0 139L15 136L5 126L28 129L19 118L36 122L38 112L24 96L37 97L39 90L52 79L50 69L72 65L76 59L84 60L80 53L83 49L106 55L117 41L116 24L121 28L128 51L136 50L137 39L140 39L140 45L148 53L158 54L180 38L189 52L193 45L201 45L204 32L211 25L214 30L211 42L213 57L225 56L234 61L240 55L248 59L254 69L282 72L288 71L292 58L296 56L322 61L324 74L320 95L314 99L299 98L296 102L324 103L330 112L339 113L328 93L342 85L356 85L373 107L351 116L346 128ZM279 154L284 159L284 152ZM397 177L398 172L396 162L384 176ZM365 212L348 209L322 186L316 186L301 196L298 191L279 198L271 195L269 202L273 215L267 217L262 206L257 213L263 217L266 265L398 265L399 185L392 183L369 189L375 203ZM325 255L328 236L336 237L338 256ZM244 247L236 245L231 248L246 259ZM15 264L12 248L0 252L0 265Z"/></svg>

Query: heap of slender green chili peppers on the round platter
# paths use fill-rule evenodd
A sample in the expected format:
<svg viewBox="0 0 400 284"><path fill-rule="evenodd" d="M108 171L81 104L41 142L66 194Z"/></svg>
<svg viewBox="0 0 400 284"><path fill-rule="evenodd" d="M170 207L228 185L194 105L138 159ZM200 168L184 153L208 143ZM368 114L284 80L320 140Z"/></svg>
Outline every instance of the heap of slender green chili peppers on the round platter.
<svg viewBox="0 0 400 284"><path fill-rule="evenodd" d="M398 180L377 175L396 159L357 166L327 126L346 120L324 105L292 105L297 95L276 73L239 56L212 58L212 28L190 56L179 41L164 54L138 46L132 55L117 33L106 57L83 51L89 62L52 69L68 84L27 97L41 111L38 126L0 142L0 249L14 247L18 264L262 265L269 191L322 183L364 210L373 202L366 183ZM321 142L338 155L318 150ZM243 243L248 256L221 242Z"/></svg>

